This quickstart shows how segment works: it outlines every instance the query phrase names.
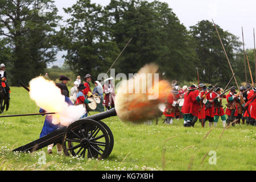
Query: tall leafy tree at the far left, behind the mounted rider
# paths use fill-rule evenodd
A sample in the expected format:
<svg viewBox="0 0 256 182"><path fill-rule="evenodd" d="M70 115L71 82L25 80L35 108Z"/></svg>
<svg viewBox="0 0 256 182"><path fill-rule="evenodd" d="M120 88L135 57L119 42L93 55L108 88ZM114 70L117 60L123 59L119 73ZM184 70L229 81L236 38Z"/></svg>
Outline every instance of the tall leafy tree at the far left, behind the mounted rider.
<svg viewBox="0 0 256 182"><path fill-rule="evenodd" d="M57 34L55 28L60 16L51 0L0 1L0 35L9 40L11 84L25 84L44 72L47 63L55 61ZM44 5L47 14L39 14Z"/></svg>

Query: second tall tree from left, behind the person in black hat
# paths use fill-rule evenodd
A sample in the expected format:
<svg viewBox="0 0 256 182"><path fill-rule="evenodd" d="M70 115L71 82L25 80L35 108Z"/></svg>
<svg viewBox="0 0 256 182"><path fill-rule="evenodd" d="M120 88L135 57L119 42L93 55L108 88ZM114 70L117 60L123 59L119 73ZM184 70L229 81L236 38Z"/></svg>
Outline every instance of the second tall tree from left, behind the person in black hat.
<svg viewBox="0 0 256 182"><path fill-rule="evenodd" d="M108 71L119 52L106 27L104 10L90 0L79 0L64 10L71 15L67 26L61 28L65 61L77 75L90 73L97 79L99 73Z"/></svg>

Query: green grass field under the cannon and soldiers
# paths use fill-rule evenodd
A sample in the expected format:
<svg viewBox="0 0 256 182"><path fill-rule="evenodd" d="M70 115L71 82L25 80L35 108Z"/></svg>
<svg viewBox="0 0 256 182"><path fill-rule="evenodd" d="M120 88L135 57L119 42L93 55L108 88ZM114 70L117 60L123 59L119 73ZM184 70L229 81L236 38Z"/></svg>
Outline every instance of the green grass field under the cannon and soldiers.
<svg viewBox="0 0 256 182"><path fill-rule="evenodd" d="M39 113L28 92L11 87L9 111L2 115ZM95 114L95 113L91 113ZM256 127L236 125L224 133L221 121L210 129L173 125L124 123L118 117L104 119L114 135L114 148L107 159L80 159L59 155L56 147L32 153L12 152L16 147L39 138L44 117L0 118L0 170L246 170L256 169ZM45 164L42 156L46 156Z"/></svg>

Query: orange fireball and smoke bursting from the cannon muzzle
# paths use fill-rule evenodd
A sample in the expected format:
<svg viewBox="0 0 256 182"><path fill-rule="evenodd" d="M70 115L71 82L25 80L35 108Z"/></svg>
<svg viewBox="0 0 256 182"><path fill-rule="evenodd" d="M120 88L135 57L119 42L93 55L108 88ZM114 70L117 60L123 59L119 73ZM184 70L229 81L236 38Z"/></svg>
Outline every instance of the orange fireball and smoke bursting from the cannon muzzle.
<svg viewBox="0 0 256 182"><path fill-rule="evenodd" d="M115 110L122 121L140 123L156 117L159 112L158 105L166 101L171 85L166 80L156 81L153 77L146 80L142 79L142 82L139 83L136 81L139 80L138 77L141 77L142 74L150 73L154 75L157 70L158 67L155 64L145 65L140 69L137 76L123 81L119 86L115 97ZM133 93L127 92L131 85L137 85L140 88L140 93L136 93L135 88L133 88ZM145 86L148 87L148 85L152 86L147 88L146 93L143 93L142 90L145 90Z"/></svg>

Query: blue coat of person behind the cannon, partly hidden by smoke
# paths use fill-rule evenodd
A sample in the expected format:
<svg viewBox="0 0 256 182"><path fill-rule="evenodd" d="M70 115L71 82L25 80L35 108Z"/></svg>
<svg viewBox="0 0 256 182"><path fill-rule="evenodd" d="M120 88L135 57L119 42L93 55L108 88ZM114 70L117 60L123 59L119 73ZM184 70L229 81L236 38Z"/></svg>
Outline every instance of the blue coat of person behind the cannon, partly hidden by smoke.
<svg viewBox="0 0 256 182"><path fill-rule="evenodd" d="M65 96L65 102L67 102L68 105L73 105L73 103L67 96ZM40 108L39 113L45 113L45 112L46 112L46 110ZM60 124L57 124L57 125L52 124L52 116L51 115L46 115L46 119L44 120L44 126L40 133L40 138L44 137L45 135L51 133L54 130L57 130L59 127L60 127Z"/></svg>

